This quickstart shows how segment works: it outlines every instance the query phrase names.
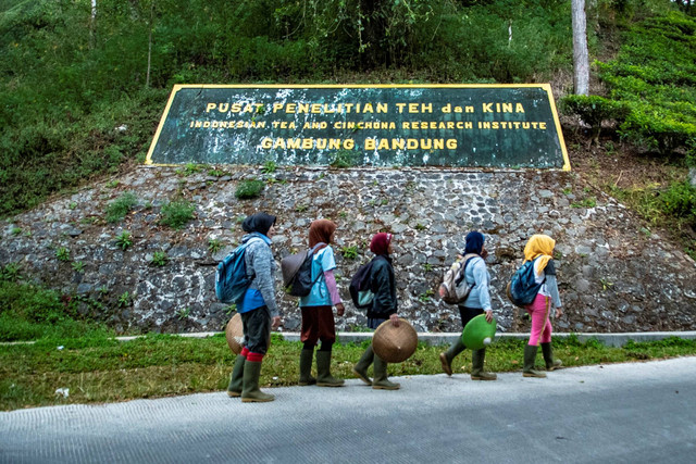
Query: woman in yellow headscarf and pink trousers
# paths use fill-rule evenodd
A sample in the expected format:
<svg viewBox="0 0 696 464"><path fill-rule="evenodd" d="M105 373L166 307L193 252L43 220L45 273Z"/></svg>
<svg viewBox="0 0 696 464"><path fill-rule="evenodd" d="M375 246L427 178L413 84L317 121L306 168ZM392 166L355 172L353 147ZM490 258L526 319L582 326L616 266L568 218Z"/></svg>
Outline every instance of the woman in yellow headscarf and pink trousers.
<svg viewBox="0 0 696 464"><path fill-rule="evenodd" d="M546 377L546 374L534 368L539 344L542 344L547 371L554 371L563 364L560 360L554 359L551 350L552 327L549 321L551 304L556 306L556 317L562 314L554 265L555 247L556 240L547 235L533 235L524 247L524 262L534 262L534 278L537 285L540 284L536 298L525 308L532 317L532 334L529 343L524 347L524 377Z"/></svg>

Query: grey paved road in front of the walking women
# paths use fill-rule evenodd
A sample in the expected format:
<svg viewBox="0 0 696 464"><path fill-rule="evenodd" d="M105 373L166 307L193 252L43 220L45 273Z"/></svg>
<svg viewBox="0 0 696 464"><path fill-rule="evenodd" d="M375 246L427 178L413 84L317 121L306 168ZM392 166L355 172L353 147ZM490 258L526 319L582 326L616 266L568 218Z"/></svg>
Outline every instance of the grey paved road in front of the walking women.
<svg viewBox="0 0 696 464"><path fill-rule="evenodd" d="M696 462L696 358L398 380L0 413L0 462Z"/></svg>

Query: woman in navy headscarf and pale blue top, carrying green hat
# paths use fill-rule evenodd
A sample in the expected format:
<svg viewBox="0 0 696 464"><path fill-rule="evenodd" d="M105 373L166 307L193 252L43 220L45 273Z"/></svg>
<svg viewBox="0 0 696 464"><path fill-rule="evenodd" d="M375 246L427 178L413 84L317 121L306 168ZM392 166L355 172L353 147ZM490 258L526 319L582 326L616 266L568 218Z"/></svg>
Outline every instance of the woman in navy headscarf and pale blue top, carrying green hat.
<svg viewBox="0 0 696 464"><path fill-rule="evenodd" d="M484 247L485 237L478 231L471 231L467 235L467 244L464 255L459 256L464 266L464 285L471 287L471 291L467 299L459 304L459 314L461 316L462 329L469 321L478 314L485 314L486 321L493 321L493 309L490 306L490 294L488 286L490 275L486 268L485 259L488 255ZM464 351L467 347L461 337L449 347L449 350L439 353L439 361L443 371L448 375L452 375L452 361L455 356ZM498 378L496 374L487 373L483 369L486 358L486 349L473 350L471 354L471 379L472 380L495 380Z"/></svg>

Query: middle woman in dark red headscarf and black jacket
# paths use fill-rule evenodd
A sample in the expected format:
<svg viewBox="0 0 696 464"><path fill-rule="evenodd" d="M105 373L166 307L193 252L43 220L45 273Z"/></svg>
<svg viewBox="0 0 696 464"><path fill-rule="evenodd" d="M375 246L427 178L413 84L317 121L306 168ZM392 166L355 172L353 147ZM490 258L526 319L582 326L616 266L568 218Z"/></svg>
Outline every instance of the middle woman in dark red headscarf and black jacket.
<svg viewBox="0 0 696 464"><path fill-rule="evenodd" d="M372 306L368 310L368 327L376 329L385 321L390 321L395 327L399 326L397 315L396 280L394 267L389 254L394 252L391 234L380 233L372 237L370 251L376 256L373 260L370 273L370 281L374 299ZM368 367L374 363L374 379L368 377ZM377 356L372 350L372 343L365 350L358 364L352 368L362 381L372 385L375 390L398 390L399 384L389 381L387 378L387 362Z"/></svg>

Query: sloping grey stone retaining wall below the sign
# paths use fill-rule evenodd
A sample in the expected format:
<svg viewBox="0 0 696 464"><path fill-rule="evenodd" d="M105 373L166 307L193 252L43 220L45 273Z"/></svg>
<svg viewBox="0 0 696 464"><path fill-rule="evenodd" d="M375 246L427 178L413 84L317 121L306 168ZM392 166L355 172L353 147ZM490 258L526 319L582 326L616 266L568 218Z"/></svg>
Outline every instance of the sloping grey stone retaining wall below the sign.
<svg viewBox="0 0 696 464"><path fill-rule="evenodd" d="M20 263L24 275L78 298L82 312L119 331L220 330L232 313L214 299L214 271L241 237L240 218L256 211L278 216L273 248L279 264L306 246L312 220L327 217L338 223L336 274L344 300L350 276L371 258L371 236L388 230L396 236L399 314L419 331L456 331L461 329L457 309L434 292L463 249L464 235L477 229L490 251L499 330L525 331L529 322L507 301L505 286L521 264L529 236L544 233L557 240L564 305L564 315L554 322L559 331L696 327L694 261L572 172L219 170L225 173L142 166L7 220L0 223L0 265ZM238 184L251 178L266 180L261 197L236 199ZM108 224L107 205L124 191L133 191L138 205L124 221ZM176 198L196 206L196 220L181 230L159 224L162 204ZM133 237L125 251L115 243L124 230ZM210 240L223 247L213 252ZM57 258L61 248L69 250L67 261ZM166 252L164 266L150 264L156 251ZM285 329L297 330L296 299L279 284ZM339 330L364 325L364 314L349 303L345 317L337 318Z"/></svg>

